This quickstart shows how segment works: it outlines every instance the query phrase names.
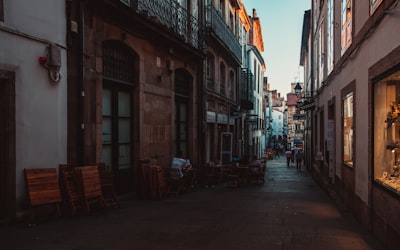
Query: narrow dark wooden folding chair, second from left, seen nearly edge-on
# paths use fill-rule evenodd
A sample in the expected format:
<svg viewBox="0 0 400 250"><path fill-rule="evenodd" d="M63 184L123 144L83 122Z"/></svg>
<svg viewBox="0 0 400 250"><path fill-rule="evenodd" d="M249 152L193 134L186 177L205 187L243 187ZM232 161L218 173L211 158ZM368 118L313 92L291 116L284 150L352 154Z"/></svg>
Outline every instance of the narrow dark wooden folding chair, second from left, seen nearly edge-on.
<svg viewBox="0 0 400 250"><path fill-rule="evenodd" d="M78 209L82 209L81 194L74 178L73 167L67 164L60 164L58 173L63 203L68 214L73 216Z"/></svg>

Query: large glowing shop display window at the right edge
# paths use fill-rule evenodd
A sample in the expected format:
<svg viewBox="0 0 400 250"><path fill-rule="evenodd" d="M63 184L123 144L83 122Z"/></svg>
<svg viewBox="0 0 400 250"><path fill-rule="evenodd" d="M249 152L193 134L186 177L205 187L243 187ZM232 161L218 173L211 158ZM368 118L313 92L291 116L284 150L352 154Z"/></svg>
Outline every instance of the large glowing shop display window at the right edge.
<svg viewBox="0 0 400 250"><path fill-rule="evenodd" d="M374 180L400 194L400 70L373 85Z"/></svg>

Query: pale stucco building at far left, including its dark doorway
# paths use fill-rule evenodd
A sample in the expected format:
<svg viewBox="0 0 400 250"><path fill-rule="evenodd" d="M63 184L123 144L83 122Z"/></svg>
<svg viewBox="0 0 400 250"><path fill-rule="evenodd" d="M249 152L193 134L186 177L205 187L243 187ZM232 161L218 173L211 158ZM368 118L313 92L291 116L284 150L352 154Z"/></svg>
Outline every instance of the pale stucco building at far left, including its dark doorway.
<svg viewBox="0 0 400 250"><path fill-rule="evenodd" d="M25 168L67 156L65 1L1 2L0 220L23 203Z"/></svg>

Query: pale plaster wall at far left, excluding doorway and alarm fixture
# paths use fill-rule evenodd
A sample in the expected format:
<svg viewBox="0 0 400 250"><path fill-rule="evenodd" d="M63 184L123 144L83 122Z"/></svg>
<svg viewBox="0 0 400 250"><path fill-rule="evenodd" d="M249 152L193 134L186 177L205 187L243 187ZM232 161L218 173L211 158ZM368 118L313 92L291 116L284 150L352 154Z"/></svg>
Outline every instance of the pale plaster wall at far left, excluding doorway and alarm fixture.
<svg viewBox="0 0 400 250"><path fill-rule="evenodd" d="M17 202L25 193L23 169L56 168L66 162L64 8L61 0L4 2L0 69L15 72ZM59 83L51 83L47 70L38 62L49 43L62 46Z"/></svg>

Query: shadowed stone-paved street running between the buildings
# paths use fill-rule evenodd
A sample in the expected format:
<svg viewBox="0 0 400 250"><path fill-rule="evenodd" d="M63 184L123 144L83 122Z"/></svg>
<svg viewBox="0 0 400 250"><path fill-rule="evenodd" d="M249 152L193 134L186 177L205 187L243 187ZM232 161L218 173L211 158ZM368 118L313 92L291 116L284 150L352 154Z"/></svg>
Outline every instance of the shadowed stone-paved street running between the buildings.
<svg viewBox="0 0 400 250"><path fill-rule="evenodd" d="M161 201L28 228L0 226L2 249L384 249L304 170L268 161L264 184L201 188Z"/></svg>

